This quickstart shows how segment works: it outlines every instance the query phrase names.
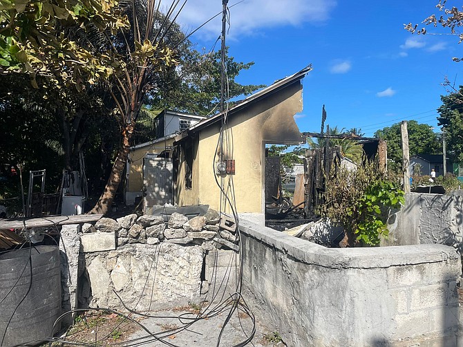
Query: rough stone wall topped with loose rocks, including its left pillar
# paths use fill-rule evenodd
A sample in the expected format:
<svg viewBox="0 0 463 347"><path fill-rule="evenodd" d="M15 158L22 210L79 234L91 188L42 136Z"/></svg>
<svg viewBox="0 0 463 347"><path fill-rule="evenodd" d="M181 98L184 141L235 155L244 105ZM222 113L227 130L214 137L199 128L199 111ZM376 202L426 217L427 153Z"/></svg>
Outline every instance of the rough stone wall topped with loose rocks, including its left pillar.
<svg viewBox="0 0 463 347"><path fill-rule="evenodd" d="M196 301L213 281L214 259L235 254L235 229L227 216L211 209L191 219L176 213L168 221L130 214L94 225L64 225L63 310L126 306L146 311Z"/></svg>

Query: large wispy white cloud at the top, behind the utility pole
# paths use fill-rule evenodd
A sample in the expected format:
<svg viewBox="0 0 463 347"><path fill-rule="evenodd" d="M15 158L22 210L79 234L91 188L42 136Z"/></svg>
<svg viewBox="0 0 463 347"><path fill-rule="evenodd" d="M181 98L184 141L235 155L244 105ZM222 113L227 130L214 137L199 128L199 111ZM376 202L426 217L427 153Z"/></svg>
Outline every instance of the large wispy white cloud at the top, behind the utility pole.
<svg viewBox="0 0 463 347"><path fill-rule="evenodd" d="M247 0L233 6L237 2L228 3L229 37L234 38L256 34L261 28L298 26L307 22L323 23L337 5L336 0ZM190 0L177 21L186 32L191 32L221 11L221 1ZM198 30L198 35L207 39L218 37L222 28L221 21L222 16L219 15Z"/></svg>

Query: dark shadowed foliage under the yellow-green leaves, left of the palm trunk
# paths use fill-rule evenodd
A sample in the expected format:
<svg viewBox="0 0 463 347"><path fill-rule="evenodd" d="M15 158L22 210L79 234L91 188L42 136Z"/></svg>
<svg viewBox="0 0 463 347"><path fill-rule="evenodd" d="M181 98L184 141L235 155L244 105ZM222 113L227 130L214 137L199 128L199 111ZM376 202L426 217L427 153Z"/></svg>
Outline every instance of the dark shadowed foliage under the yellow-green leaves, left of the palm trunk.
<svg viewBox="0 0 463 347"><path fill-rule="evenodd" d="M40 79L37 76L37 81ZM0 75L0 129L9 134L0 139L0 163L21 164L25 172L46 169L46 187L56 189L62 180L62 169L78 169L79 153L84 151L87 169L92 171L87 178L92 187L97 187L99 184L93 181L100 182L100 168L112 157L105 165L95 162L95 158L107 152L107 146L97 144L95 139L107 139L113 147L119 143L119 126L111 122L98 85L86 88L86 93L64 96L32 88L24 74ZM44 97L50 95L55 97ZM92 170L94 163L98 170Z"/></svg>

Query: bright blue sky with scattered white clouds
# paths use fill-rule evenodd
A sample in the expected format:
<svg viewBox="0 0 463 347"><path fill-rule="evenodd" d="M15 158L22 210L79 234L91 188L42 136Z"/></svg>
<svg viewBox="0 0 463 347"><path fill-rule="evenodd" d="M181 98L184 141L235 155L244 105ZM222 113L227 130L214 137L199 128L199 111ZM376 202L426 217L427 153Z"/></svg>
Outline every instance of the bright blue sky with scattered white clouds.
<svg viewBox="0 0 463 347"><path fill-rule="evenodd" d="M312 64L303 80L303 112L296 115L301 131L320 131L323 104L325 124L361 128L366 136L401 120L437 128L444 78L463 84L463 62L452 61L463 56L462 46L456 36L404 30L404 24L440 15L437 2L244 0L230 8L227 46L237 61L255 64L237 81L269 85ZM453 4L461 9L458 1L447 6ZM178 21L191 32L221 9L221 0L189 0ZM220 28L218 17L191 41L210 50Z"/></svg>

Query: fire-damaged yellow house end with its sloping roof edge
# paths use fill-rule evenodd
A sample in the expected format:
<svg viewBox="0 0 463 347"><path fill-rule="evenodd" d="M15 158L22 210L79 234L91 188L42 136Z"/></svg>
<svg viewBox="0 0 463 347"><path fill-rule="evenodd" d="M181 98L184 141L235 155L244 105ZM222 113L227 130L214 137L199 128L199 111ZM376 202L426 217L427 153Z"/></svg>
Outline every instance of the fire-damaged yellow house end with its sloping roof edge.
<svg viewBox="0 0 463 347"><path fill-rule="evenodd" d="M265 213L265 144L305 142L294 115L302 111L301 79L310 66L247 97L227 111L227 140L220 153L222 113L177 136L178 173L175 203L208 204L231 212L216 185L214 171L223 170L218 180L233 178L237 212ZM222 156L220 155L222 154ZM223 158L220 162L219 158ZM225 190L230 191L229 188Z"/></svg>

